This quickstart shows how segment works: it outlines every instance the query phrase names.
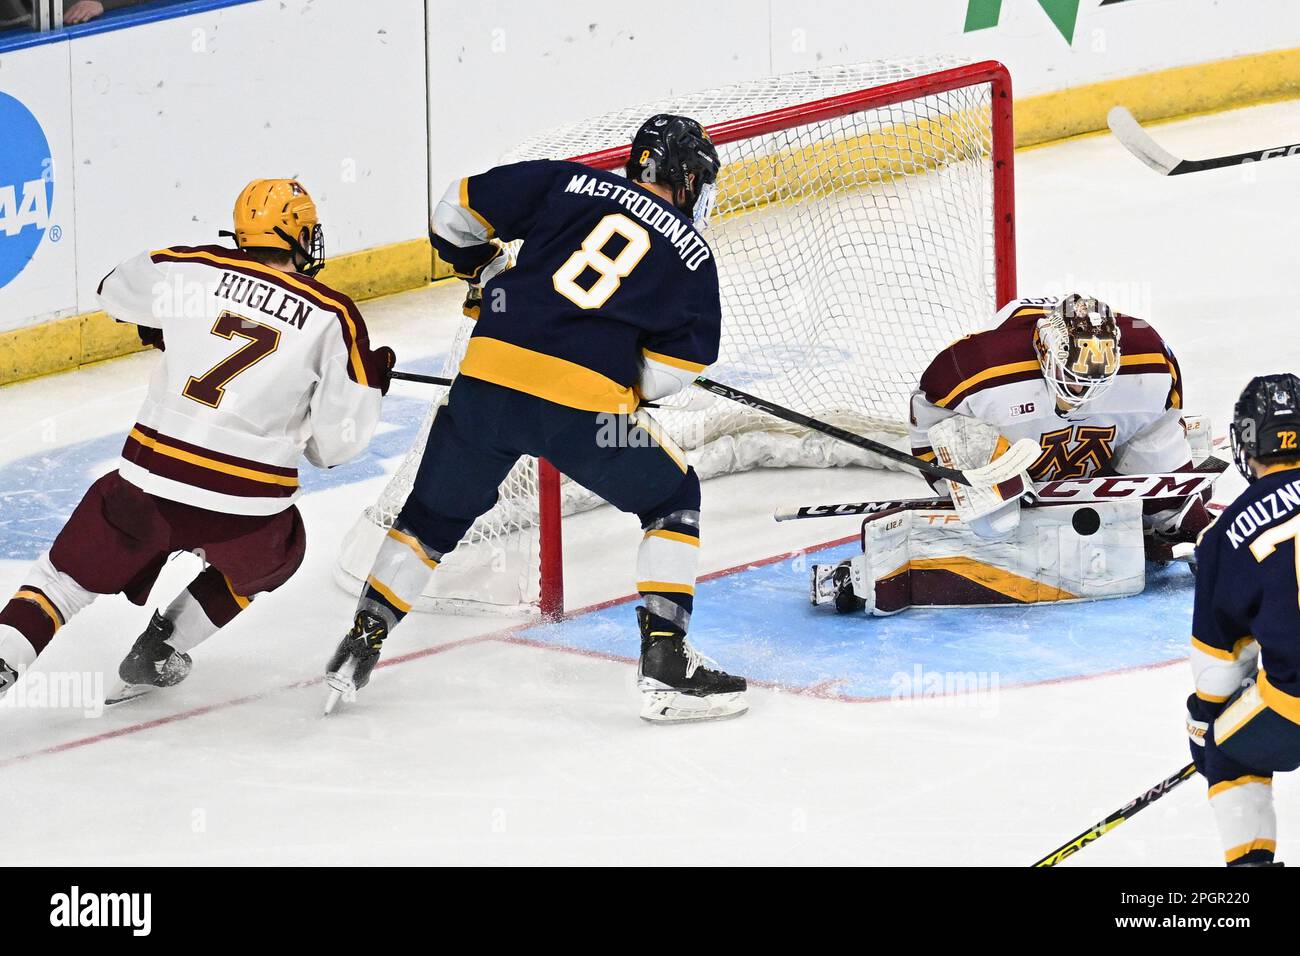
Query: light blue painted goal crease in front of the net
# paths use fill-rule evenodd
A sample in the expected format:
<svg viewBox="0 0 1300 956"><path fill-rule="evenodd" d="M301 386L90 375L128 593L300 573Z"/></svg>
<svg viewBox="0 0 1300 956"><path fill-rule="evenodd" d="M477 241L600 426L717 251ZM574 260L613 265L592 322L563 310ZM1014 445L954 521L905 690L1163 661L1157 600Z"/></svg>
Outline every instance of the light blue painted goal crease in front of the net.
<svg viewBox="0 0 1300 956"><path fill-rule="evenodd" d="M1141 594L1018 607L913 609L888 618L809 602L811 563L855 544L749 566L696 589L690 643L724 670L819 696L900 700L1150 667L1187 656L1193 579L1186 564L1147 566ZM516 632L524 640L636 658L633 602Z"/></svg>

